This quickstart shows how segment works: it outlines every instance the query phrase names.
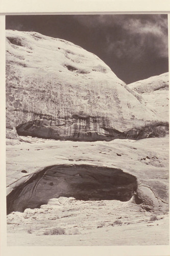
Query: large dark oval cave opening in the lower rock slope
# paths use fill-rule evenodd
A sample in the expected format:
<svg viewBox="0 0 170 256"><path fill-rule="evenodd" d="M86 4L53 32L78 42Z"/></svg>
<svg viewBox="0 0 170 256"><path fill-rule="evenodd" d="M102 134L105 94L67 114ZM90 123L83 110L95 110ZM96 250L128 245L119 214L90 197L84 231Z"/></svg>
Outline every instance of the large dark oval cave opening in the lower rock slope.
<svg viewBox="0 0 170 256"><path fill-rule="evenodd" d="M52 198L129 201L136 177L117 168L94 165L53 165L25 177L7 196L7 214L39 208Z"/></svg>

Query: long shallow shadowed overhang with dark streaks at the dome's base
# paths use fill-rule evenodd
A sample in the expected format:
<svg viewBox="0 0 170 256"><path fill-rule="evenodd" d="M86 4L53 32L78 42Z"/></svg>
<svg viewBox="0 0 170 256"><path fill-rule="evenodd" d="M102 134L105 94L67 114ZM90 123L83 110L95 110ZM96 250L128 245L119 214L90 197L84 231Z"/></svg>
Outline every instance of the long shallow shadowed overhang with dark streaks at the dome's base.
<svg viewBox="0 0 170 256"><path fill-rule="evenodd" d="M98 141L113 139L144 139L164 137L168 133L168 123L150 123L141 127L134 127L125 132L120 132L109 127L106 120L94 117L80 117L72 115L72 119L52 121L34 119L16 126L19 136L31 136L44 139L72 140L72 141ZM47 117L46 117L47 118ZM102 120L102 121L101 121ZM71 125L70 125L71 124ZM93 127L91 130L90 127Z"/></svg>

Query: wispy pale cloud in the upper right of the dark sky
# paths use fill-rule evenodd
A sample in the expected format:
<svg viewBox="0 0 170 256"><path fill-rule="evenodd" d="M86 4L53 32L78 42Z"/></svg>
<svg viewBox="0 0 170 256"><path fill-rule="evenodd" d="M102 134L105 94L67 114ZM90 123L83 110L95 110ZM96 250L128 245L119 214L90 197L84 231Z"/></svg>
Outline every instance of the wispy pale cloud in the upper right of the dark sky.
<svg viewBox="0 0 170 256"><path fill-rule="evenodd" d="M167 15L75 15L75 19L95 35L103 33L106 54L132 61L149 55L168 57Z"/></svg>

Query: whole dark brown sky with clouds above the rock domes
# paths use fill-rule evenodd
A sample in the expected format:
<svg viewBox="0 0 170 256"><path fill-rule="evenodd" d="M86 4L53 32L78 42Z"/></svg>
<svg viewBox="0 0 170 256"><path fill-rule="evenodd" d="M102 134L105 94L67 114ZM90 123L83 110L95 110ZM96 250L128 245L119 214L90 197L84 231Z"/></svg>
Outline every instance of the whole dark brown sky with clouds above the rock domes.
<svg viewBox="0 0 170 256"><path fill-rule="evenodd" d="M6 29L74 42L126 83L168 72L167 15L8 15Z"/></svg>

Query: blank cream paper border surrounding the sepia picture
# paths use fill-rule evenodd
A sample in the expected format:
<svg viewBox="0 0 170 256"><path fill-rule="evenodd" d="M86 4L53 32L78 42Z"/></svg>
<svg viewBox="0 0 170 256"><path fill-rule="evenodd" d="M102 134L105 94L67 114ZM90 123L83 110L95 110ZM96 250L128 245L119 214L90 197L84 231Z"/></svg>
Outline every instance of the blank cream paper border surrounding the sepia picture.
<svg viewBox="0 0 170 256"><path fill-rule="evenodd" d="M66 4L67 2L67 4ZM123 5L126 2L126 7ZM41 3L41 5L40 5ZM53 7L50 6L53 3ZM137 4L138 3L138 4ZM155 4L154 4L155 3ZM75 7L75 5L78 5ZM170 2L160 1L160 0L151 0L147 1L129 1L129 0L120 0L120 1L83 1L83 0L74 0L74 1L36 1L35 5L33 1L10 1L3 0L1 1L0 6L0 49L1 49L1 76L0 76L0 154L1 154L1 255L46 255L56 253L60 255L81 255L81 256L90 256L90 255L116 255L116 256L164 256L170 255L170 246L7 246L7 227L6 227L6 140L5 140L5 14L6 15L31 15L31 14L168 14L168 47L170 40ZM148 5L148 7L147 7ZM49 7L50 6L50 7ZM110 7L110 11L109 11ZM91 11L90 11L91 9ZM130 11L131 9L131 11ZM51 11L50 11L51 10ZM77 10L77 11L76 11ZM83 11L81 11L83 10ZM103 11L102 11L103 10ZM106 13L107 12L107 13Z"/></svg>

